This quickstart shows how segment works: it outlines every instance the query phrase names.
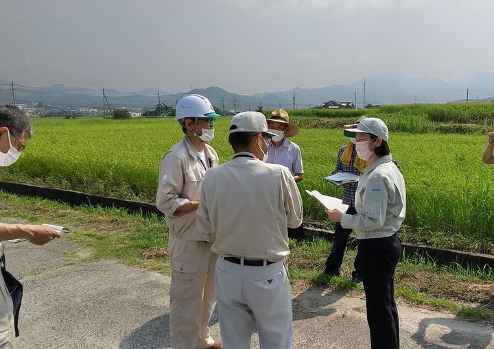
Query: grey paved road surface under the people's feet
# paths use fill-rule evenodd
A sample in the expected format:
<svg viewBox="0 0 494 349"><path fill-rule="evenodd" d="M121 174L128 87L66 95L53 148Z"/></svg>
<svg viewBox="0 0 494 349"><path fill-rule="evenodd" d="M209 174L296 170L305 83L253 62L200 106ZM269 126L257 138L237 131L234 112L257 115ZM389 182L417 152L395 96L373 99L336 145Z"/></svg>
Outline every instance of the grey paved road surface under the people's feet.
<svg viewBox="0 0 494 349"><path fill-rule="evenodd" d="M24 285L21 348L169 348L169 276L117 261L67 264L67 237L5 243ZM369 348L365 302L309 289L294 295L293 348ZM399 306L401 348L494 348L494 327ZM219 337L217 314L211 319ZM259 348L257 335L251 348Z"/></svg>

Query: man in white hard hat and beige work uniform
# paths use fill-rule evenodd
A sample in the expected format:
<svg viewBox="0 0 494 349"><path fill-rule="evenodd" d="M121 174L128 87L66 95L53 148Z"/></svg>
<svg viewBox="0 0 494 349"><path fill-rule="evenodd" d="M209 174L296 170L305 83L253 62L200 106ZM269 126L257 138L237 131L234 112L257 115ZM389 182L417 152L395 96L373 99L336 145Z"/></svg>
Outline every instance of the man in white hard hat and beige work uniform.
<svg viewBox="0 0 494 349"><path fill-rule="evenodd" d="M215 307L214 266L209 235L196 225L196 211L204 173L218 164L213 147L215 113L209 100L187 95L178 101L176 119L185 137L169 149L161 162L156 206L165 214L169 230L172 284L169 291L169 328L172 348L222 348L207 326Z"/></svg>

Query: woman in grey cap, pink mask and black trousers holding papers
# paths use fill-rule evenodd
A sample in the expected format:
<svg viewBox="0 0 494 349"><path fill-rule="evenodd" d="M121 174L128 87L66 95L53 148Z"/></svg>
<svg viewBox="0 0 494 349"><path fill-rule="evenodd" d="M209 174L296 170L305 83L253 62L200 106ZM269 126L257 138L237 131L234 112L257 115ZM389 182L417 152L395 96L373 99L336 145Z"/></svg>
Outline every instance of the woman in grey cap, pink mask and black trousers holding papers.
<svg viewBox="0 0 494 349"><path fill-rule="evenodd" d="M360 175L355 193L357 214L326 213L357 235L371 348L399 348L394 278L401 253L397 231L405 219L405 182L392 162L388 127L381 119L364 119L344 134L356 138L357 155L370 165Z"/></svg>

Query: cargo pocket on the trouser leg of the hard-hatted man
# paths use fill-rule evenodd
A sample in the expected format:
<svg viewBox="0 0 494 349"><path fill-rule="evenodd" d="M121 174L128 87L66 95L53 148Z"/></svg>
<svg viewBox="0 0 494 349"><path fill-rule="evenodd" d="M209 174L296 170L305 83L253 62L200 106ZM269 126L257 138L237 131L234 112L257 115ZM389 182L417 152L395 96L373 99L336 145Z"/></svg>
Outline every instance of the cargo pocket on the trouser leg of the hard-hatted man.
<svg viewBox="0 0 494 349"><path fill-rule="evenodd" d="M169 296L178 299L200 296L202 294L202 288L200 287L202 284L198 282L197 275L197 265L174 263Z"/></svg>

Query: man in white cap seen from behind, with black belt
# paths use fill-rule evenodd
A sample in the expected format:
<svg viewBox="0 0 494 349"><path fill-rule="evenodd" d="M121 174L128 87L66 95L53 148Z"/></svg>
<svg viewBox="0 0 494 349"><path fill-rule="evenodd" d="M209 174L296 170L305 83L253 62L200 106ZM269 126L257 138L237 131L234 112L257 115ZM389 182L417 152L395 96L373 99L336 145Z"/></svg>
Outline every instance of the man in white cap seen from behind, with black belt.
<svg viewBox="0 0 494 349"><path fill-rule="evenodd" d="M267 164L272 134L260 112L230 123L233 159L204 176L200 232L218 254L215 293L224 348L248 348L257 323L261 348L291 348L292 293L286 227L302 222L302 199L287 167Z"/></svg>

